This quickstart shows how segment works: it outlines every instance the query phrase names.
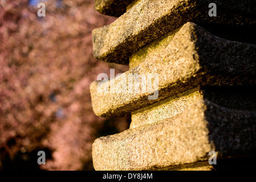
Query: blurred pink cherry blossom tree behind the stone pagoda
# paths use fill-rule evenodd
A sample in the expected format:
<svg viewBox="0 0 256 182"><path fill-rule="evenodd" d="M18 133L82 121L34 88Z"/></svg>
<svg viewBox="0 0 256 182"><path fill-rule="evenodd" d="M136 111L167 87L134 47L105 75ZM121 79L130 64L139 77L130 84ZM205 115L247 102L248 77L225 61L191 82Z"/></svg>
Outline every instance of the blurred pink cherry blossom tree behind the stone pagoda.
<svg viewBox="0 0 256 182"><path fill-rule="evenodd" d="M115 19L97 13L94 0L38 2L45 17L35 1L0 0L0 169L93 169L92 142L129 125L91 106L97 75L128 69L92 56L91 31ZM39 150L46 165L29 166Z"/></svg>

